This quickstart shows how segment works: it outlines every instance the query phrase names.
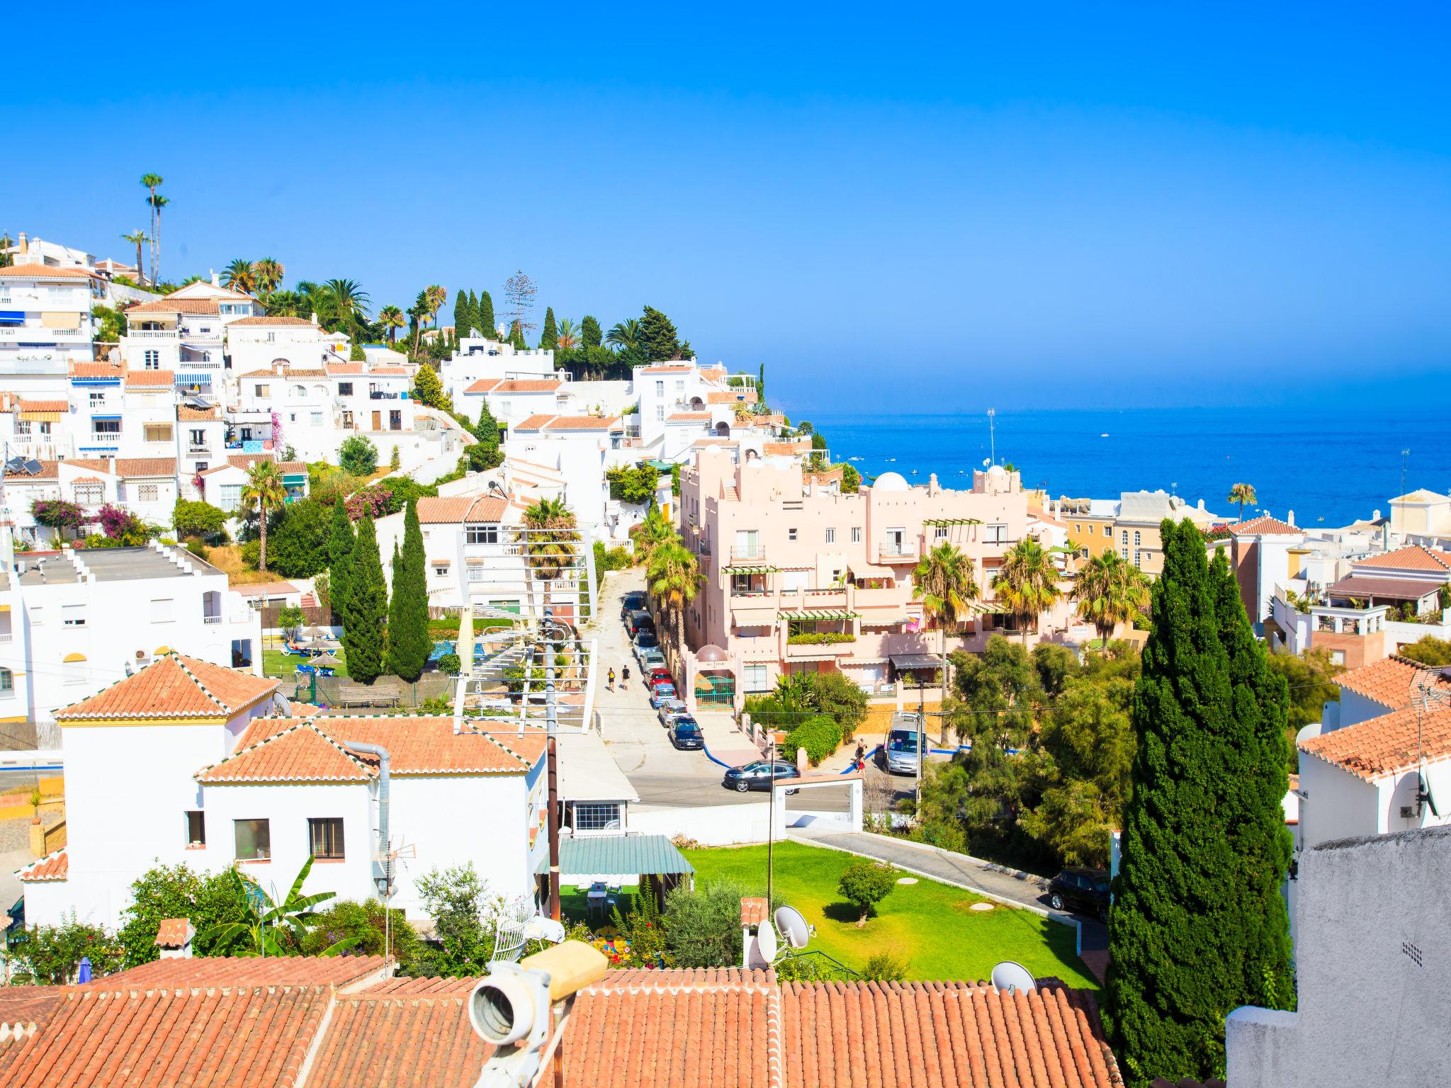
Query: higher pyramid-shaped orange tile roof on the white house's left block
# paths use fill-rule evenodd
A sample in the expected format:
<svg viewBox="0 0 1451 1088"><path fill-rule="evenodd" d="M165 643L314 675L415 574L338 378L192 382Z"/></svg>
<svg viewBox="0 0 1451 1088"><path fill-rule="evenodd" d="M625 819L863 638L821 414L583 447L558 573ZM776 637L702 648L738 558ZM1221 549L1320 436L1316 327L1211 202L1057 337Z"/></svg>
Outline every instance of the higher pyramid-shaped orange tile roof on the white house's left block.
<svg viewBox="0 0 1451 1088"><path fill-rule="evenodd" d="M80 718L231 718L277 691L280 680L168 653L89 699L55 711Z"/></svg>

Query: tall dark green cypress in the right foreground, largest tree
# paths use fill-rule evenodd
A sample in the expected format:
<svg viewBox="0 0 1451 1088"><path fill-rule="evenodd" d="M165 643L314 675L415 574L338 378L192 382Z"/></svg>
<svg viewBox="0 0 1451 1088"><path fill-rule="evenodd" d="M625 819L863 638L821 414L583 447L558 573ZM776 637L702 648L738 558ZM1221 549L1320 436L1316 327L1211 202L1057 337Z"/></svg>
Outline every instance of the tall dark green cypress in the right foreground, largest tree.
<svg viewBox="0 0 1451 1088"><path fill-rule="evenodd" d="M1284 1007L1290 994L1288 926L1274 902L1288 867L1283 730L1278 746L1271 737L1284 692L1255 654L1228 567L1210 569L1188 521L1165 521L1161 535L1104 986L1133 1085L1222 1078L1225 1017Z"/></svg>

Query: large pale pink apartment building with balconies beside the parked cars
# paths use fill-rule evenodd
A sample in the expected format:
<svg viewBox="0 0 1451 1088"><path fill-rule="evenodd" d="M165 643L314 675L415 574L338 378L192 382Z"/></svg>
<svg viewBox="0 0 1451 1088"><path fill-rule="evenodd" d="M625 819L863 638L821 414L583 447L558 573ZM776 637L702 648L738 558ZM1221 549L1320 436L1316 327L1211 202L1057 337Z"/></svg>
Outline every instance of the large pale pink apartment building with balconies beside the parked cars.
<svg viewBox="0 0 1451 1088"><path fill-rule="evenodd" d="M927 628L911 573L943 541L972 560L981 588L974 618L948 648L981 650L992 632L1017 630L991 590L1003 556L1029 532L1016 471L975 471L972 490L885 473L843 495L839 480L791 457L737 464L721 450L701 450L696 467L682 470L681 532L705 577L686 614L685 680L701 702L711 699L712 675L728 677L723 691L733 680L739 702L784 673L839 669L874 692L934 673L940 635ZM1091 638L1071 617L1065 599L1039 617L1030 640Z"/></svg>

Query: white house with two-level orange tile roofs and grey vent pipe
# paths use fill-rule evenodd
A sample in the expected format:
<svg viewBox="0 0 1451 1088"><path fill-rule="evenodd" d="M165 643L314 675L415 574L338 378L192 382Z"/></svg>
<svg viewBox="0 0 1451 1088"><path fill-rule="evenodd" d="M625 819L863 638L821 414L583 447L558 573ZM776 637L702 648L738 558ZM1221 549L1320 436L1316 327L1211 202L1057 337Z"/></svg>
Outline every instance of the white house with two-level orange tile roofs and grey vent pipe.
<svg viewBox="0 0 1451 1088"><path fill-rule="evenodd" d="M26 921L74 911L115 927L129 885L158 860L237 865L284 892L311 854L305 892L367 899L393 853L392 905L411 917L422 917L415 882L434 867L472 863L492 894L534 895L548 846L541 731L293 717L276 689L167 654L65 708L68 844L22 872Z"/></svg>

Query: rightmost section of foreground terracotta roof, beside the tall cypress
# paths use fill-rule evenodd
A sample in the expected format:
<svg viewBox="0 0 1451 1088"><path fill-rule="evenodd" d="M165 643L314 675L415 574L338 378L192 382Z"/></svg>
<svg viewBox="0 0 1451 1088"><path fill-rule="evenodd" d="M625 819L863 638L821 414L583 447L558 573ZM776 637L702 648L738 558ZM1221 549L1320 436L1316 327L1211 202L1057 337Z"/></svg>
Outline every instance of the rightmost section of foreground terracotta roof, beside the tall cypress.
<svg viewBox="0 0 1451 1088"><path fill-rule="evenodd" d="M961 982L782 986L791 1084L1122 1085L1085 989Z"/></svg>

